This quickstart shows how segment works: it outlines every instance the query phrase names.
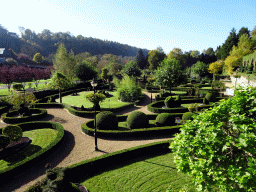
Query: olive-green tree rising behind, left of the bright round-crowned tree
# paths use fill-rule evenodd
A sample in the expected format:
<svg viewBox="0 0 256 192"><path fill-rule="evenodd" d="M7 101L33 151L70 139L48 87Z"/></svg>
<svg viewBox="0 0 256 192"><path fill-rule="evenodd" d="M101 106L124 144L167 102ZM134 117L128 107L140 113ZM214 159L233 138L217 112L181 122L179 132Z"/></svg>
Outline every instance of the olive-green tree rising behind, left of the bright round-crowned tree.
<svg viewBox="0 0 256 192"><path fill-rule="evenodd" d="M159 64L164 60L166 57L165 53L160 52L161 48L159 47L158 50L151 50L148 53L148 63L149 69L155 70L159 66Z"/></svg>

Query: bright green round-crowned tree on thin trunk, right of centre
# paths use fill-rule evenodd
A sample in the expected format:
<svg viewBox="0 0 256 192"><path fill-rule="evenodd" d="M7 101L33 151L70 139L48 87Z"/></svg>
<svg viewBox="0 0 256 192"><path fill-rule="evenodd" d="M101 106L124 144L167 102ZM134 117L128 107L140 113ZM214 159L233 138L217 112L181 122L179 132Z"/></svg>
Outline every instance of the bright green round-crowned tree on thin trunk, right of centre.
<svg viewBox="0 0 256 192"><path fill-rule="evenodd" d="M157 68L154 77L155 84L158 86L167 86L170 89L184 83L187 79L186 75L181 70L181 64L173 58L164 59Z"/></svg>

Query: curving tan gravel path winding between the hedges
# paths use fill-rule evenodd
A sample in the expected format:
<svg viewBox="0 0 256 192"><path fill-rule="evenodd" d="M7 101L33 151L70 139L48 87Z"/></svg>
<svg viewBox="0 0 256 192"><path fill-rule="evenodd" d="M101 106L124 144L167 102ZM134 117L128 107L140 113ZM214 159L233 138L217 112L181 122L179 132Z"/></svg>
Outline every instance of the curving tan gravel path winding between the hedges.
<svg viewBox="0 0 256 192"><path fill-rule="evenodd" d="M145 100L133 108L123 110L116 113L117 115L126 115L134 110L143 111L144 113L152 113L147 110L150 103L151 93L146 94ZM157 93L153 93L153 98ZM91 159L122 149L153 143L161 140L169 140L171 137L152 137L152 138L132 138L127 140L104 140L98 139L98 148L100 151L94 151L94 137L85 135L81 132L81 124L91 118L77 117L70 114L66 109L48 108L48 116L42 121L53 121L63 125L65 129L65 142L62 146L52 154L48 159L43 160L39 165L33 165L28 171L17 175L14 179L0 186L0 191L23 192L36 181L41 180L45 176L45 164L50 163L53 167L65 167L78 163L82 160ZM0 122L0 127L7 124Z"/></svg>

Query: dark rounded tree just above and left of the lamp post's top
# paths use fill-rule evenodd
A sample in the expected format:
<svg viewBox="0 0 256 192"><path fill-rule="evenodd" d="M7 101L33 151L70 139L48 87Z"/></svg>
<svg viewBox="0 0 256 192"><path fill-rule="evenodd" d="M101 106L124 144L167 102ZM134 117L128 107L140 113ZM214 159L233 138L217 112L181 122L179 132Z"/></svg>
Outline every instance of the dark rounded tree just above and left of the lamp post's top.
<svg viewBox="0 0 256 192"><path fill-rule="evenodd" d="M96 78L98 74L96 69L86 61L79 63L74 71L76 76L83 82Z"/></svg>

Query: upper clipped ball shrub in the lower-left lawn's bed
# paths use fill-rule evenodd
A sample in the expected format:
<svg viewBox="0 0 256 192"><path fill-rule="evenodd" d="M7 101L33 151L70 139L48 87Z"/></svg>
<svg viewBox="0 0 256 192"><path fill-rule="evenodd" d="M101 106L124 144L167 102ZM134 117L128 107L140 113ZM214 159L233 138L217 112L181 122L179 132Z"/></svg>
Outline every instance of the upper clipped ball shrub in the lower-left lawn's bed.
<svg viewBox="0 0 256 192"><path fill-rule="evenodd" d="M9 125L3 129L3 135L9 137L11 142L19 141L22 138L22 129L17 125Z"/></svg>

